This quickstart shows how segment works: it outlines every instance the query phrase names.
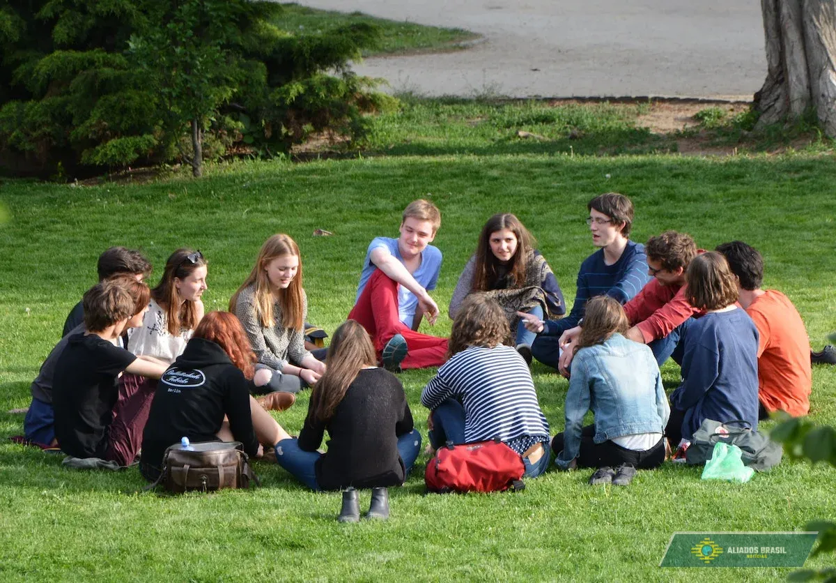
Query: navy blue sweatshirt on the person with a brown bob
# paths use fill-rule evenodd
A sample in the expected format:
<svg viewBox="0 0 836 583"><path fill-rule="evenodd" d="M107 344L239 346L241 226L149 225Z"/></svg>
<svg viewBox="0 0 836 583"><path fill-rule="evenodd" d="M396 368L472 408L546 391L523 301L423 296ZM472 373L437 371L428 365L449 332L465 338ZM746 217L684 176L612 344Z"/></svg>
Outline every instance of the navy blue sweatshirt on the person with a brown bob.
<svg viewBox="0 0 836 583"><path fill-rule="evenodd" d="M757 428L757 340L755 323L740 308L689 326L683 381L670 395L670 406L686 412L683 438L691 441L706 419L742 419Z"/></svg>

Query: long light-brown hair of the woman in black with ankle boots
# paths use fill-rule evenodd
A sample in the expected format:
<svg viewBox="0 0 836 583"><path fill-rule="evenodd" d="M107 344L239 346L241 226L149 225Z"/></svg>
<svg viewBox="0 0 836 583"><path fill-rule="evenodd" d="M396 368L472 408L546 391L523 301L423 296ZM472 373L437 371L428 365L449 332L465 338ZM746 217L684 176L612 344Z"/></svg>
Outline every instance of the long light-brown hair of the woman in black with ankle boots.
<svg viewBox="0 0 836 583"><path fill-rule="evenodd" d="M376 366L377 355L369 333L354 320L346 320L334 332L325 374L311 392L310 411L321 422L334 417L334 411L364 366Z"/></svg>

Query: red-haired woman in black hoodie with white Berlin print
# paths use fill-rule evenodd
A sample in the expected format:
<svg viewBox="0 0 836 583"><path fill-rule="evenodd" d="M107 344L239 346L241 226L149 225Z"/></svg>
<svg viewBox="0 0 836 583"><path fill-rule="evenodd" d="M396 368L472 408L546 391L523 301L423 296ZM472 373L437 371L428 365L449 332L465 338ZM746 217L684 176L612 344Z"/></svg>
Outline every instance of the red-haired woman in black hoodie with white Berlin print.
<svg viewBox="0 0 836 583"><path fill-rule="evenodd" d="M163 373L142 436L140 473L155 480L166 447L239 441L256 458L290 436L250 396L256 356L235 315L203 317L186 350ZM293 401L293 395L288 395ZM289 407L289 405L288 405ZM286 407L285 407L286 408Z"/></svg>

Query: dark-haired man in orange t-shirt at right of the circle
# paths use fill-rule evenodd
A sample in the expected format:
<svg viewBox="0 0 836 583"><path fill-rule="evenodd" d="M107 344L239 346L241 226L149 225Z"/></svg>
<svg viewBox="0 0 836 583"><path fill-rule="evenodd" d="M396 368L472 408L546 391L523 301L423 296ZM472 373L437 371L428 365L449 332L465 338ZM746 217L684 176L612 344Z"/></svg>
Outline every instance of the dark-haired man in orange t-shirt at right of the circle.
<svg viewBox="0 0 836 583"><path fill-rule="evenodd" d="M757 249L732 241L716 250L722 253L737 277L738 302L752 317L760 341L757 347L759 418L774 411L793 417L810 411L813 384L810 340L798 310L775 289L761 289L763 258Z"/></svg>

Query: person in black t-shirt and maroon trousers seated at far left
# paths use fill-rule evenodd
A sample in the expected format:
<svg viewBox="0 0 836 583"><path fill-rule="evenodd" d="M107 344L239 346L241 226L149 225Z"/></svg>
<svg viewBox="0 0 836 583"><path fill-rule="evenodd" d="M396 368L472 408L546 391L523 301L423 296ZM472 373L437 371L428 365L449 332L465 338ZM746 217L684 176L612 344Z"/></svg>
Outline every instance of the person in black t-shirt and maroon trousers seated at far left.
<svg viewBox="0 0 836 583"><path fill-rule="evenodd" d="M85 331L69 336L55 365L55 437L74 458L101 458L127 466L139 453L148 418L146 399L120 391L123 372L160 378L166 366L116 345L125 329L138 326L148 309L145 284L141 306L124 286L95 284L84 294Z"/></svg>

